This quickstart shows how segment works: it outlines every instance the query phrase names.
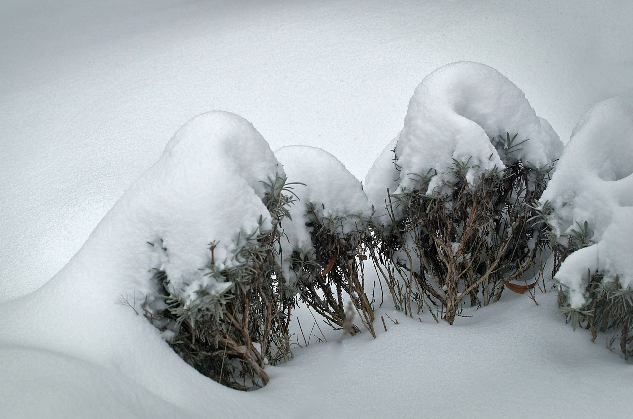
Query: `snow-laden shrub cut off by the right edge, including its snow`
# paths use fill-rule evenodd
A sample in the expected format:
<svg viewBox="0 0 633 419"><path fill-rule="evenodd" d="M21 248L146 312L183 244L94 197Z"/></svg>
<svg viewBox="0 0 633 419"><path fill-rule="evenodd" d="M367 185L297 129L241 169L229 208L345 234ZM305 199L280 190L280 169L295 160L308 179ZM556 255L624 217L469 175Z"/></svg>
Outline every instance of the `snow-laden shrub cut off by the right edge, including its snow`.
<svg viewBox="0 0 633 419"><path fill-rule="evenodd" d="M617 328L633 354L633 98L612 97L580 118L541 210L556 247L555 278L568 319Z"/></svg>

